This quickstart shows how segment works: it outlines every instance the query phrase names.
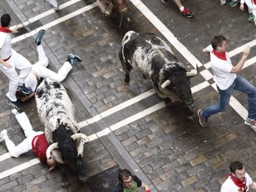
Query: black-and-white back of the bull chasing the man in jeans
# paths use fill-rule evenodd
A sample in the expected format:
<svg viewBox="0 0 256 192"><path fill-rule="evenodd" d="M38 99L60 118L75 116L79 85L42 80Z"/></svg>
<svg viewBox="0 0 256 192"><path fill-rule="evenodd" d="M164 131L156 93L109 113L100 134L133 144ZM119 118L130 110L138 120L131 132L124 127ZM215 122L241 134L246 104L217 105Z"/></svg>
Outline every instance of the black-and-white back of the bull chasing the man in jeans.
<svg viewBox="0 0 256 192"><path fill-rule="evenodd" d="M121 51L123 61L148 77L158 73L166 62L176 60L169 45L153 33L128 31L122 40Z"/></svg>

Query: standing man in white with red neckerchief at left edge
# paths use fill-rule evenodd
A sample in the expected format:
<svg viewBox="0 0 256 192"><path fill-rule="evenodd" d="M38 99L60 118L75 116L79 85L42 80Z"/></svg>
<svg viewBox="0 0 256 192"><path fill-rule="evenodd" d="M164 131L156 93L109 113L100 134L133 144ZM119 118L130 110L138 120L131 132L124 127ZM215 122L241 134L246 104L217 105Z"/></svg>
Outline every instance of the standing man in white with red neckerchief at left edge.
<svg viewBox="0 0 256 192"><path fill-rule="evenodd" d="M6 93L7 103L12 106L12 108L20 111L19 102L15 93L18 86L22 86L25 77L32 69L32 64L14 51L11 48L11 33L17 32L10 30L11 17L9 14L4 14L1 17L1 27L0 27L0 70L9 78L9 91ZM20 70L18 75L15 69Z"/></svg>

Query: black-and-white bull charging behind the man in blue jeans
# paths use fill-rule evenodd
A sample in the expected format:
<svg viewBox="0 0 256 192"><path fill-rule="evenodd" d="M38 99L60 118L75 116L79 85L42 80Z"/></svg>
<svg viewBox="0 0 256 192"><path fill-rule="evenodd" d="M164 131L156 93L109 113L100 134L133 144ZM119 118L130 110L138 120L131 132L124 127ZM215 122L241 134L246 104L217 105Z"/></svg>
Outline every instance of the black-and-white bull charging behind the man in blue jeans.
<svg viewBox="0 0 256 192"><path fill-rule="evenodd" d="M171 99L174 93L190 109L193 108L190 77L197 75L197 69L187 72L168 44L158 36L128 31L122 39L119 59L126 72L126 85L130 82L132 68L139 69L144 78L151 80L161 98Z"/></svg>

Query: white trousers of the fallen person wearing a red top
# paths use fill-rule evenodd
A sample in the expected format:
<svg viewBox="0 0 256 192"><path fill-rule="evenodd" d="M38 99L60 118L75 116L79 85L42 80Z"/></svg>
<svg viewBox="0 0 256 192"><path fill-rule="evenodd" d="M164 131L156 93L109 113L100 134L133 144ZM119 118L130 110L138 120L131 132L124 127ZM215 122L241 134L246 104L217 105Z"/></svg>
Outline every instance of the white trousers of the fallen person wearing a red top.
<svg viewBox="0 0 256 192"><path fill-rule="evenodd" d="M7 137L5 139L6 147L9 151L9 154L12 157L19 157L21 154L28 152L32 149L32 140L36 135L43 134L43 131L34 131L32 125L30 124L30 121L25 114L25 112L22 112L21 114L15 115L15 118L20 124L20 127L22 127L24 134L27 138L22 141L22 143L15 146L15 144Z"/></svg>

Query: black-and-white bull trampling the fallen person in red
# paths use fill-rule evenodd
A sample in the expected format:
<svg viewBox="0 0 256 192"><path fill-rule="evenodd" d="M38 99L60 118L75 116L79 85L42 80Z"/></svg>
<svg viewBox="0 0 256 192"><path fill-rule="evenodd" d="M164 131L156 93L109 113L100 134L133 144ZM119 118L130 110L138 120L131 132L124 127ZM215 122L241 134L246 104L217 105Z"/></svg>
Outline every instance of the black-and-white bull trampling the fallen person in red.
<svg viewBox="0 0 256 192"><path fill-rule="evenodd" d="M64 160L77 170L82 182L87 180L83 168L83 144L88 137L80 133L74 119L75 108L64 86L58 81L43 80L35 93L36 108L41 123L45 125L46 140L50 144L46 157L51 158L52 152L62 173L62 187L69 186Z"/></svg>

